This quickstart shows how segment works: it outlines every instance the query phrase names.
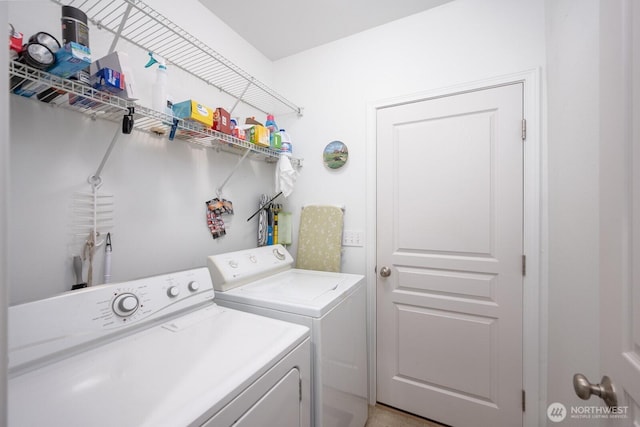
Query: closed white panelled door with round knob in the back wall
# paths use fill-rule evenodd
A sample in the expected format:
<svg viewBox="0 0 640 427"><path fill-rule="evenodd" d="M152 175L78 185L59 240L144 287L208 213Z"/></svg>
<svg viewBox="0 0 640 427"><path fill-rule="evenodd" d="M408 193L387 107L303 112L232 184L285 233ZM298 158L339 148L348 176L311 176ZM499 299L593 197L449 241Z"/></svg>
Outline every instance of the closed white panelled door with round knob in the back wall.
<svg viewBox="0 0 640 427"><path fill-rule="evenodd" d="M377 112L377 400L522 425L523 85Z"/></svg>

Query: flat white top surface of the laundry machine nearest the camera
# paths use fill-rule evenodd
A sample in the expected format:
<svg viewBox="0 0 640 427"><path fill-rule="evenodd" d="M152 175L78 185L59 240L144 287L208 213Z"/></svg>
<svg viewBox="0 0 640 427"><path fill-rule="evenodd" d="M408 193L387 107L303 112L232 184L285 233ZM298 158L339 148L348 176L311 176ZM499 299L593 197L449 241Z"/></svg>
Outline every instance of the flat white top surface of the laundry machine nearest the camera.
<svg viewBox="0 0 640 427"><path fill-rule="evenodd" d="M9 379L9 425L201 425L309 336L211 304Z"/></svg>

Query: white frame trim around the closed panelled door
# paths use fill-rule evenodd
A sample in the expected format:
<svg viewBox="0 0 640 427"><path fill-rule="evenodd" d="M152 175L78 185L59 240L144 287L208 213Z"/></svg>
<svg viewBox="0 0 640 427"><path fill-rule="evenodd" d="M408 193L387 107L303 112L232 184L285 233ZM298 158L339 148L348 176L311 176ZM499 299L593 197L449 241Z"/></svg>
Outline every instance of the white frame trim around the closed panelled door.
<svg viewBox="0 0 640 427"><path fill-rule="evenodd" d="M393 105L428 100L448 95L488 89L513 83L524 86L524 116L526 140L524 144L524 254L527 257L523 277L523 386L526 390L523 426L539 425L541 414L546 414L546 354L547 354L547 166L546 138L541 124L541 71L498 76L415 94L383 99L367 105L366 135L366 278L368 286L367 323L369 325L369 403L374 405L376 395L376 115L377 110ZM543 418L544 419L544 418Z"/></svg>

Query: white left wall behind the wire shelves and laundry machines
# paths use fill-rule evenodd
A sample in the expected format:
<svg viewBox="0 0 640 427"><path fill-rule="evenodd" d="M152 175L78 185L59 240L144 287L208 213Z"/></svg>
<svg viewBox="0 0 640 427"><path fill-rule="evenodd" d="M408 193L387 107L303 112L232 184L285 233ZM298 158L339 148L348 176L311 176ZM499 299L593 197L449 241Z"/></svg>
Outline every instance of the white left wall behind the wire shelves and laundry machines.
<svg viewBox="0 0 640 427"><path fill-rule="evenodd" d="M196 0L154 1L154 7L178 25L218 49L269 84L271 63ZM60 7L50 1L10 2L9 20L25 37L48 31L60 37ZM61 37L60 37L61 38ZM91 26L94 58L107 53L112 36ZM126 42L135 69L140 103L150 105L153 70L145 70L147 52ZM169 94L174 100L194 98L211 107L230 109L233 100L169 65ZM21 98L10 97L11 187L10 302L12 304L69 290L75 283L71 259L82 250L73 239L72 195L88 192L93 174L119 123L86 116ZM242 118L263 113L246 107ZM205 221L205 204L228 176L239 157L180 141L134 131L121 136L104 168L101 191L115 195L112 230L112 281L203 266L206 256L255 246L255 211L260 193L273 194L273 164L246 160L224 188L235 215L225 217L227 235L213 240ZM3 169L4 170L4 169ZM96 251L94 279L103 275L103 248ZM85 266L85 278L87 268Z"/></svg>

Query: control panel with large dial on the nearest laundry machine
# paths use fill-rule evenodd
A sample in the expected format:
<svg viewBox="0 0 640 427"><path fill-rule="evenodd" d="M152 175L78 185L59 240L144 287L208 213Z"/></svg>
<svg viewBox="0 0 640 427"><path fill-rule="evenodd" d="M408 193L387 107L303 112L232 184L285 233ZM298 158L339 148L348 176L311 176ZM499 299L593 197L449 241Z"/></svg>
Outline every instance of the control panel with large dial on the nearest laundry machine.
<svg viewBox="0 0 640 427"><path fill-rule="evenodd" d="M213 297L209 270L198 268L9 307L10 369L125 328L213 304Z"/></svg>

